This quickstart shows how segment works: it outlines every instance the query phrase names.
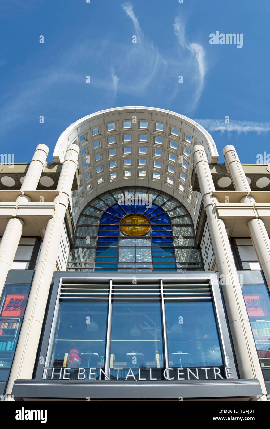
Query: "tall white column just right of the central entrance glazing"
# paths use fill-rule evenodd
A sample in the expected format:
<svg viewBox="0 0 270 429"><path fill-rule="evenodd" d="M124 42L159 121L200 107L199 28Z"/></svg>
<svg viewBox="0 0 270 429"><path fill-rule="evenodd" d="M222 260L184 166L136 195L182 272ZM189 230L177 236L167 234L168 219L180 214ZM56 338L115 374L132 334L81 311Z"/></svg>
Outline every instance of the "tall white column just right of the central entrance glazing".
<svg viewBox="0 0 270 429"><path fill-rule="evenodd" d="M230 249L224 222L218 217L215 204L217 199L212 195L215 190L206 153L201 145L192 149L194 167L199 180L200 191L206 211L209 234L215 255L218 272L226 279L222 285L230 331L233 338L236 360L241 378L258 378L266 393L264 378L255 347L252 329L249 323L245 301Z"/></svg>

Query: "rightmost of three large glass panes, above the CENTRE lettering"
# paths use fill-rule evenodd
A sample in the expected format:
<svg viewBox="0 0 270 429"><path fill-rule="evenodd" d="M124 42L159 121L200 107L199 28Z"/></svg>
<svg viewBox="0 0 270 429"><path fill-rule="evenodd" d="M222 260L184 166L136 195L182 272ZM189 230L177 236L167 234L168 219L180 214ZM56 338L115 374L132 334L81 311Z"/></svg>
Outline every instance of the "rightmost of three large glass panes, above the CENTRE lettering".
<svg viewBox="0 0 270 429"><path fill-rule="evenodd" d="M212 302L166 302L173 367L223 366Z"/></svg>

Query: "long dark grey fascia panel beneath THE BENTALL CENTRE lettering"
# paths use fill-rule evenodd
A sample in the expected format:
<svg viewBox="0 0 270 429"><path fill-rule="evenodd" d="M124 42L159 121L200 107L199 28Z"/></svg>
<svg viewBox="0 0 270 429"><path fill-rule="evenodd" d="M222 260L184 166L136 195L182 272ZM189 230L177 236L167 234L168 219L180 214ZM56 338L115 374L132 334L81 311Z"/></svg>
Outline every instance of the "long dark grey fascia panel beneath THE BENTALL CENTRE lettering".
<svg viewBox="0 0 270 429"><path fill-rule="evenodd" d="M189 381L55 381L15 380L15 401L24 399L177 399L256 398L262 395L257 379Z"/></svg>

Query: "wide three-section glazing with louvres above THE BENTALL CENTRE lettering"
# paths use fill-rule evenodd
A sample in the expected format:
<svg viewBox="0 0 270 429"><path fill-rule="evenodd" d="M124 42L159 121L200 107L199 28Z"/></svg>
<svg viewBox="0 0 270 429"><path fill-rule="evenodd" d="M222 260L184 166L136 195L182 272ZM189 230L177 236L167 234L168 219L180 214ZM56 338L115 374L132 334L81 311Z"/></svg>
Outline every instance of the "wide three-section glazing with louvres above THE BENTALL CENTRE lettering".
<svg viewBox="0 0 270 429"><path fill-rule="evenodd" d="M179 368L199 370L202 379L208 368L214 378L213 367L226 378L209 285L168 284L164 298L158 283L111 288L110 302L106 285L62 287L44 378L62 379L68 368L74 380L104 373L110 380L164 380L166 366L175 379Z"/></svg>

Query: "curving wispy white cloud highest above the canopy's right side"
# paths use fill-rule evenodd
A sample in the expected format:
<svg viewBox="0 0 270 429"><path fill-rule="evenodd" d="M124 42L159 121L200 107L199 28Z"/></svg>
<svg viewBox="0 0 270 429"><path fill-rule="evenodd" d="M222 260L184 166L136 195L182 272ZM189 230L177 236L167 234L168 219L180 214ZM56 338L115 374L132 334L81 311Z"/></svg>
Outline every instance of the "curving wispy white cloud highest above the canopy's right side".
<svg viewBox="0 0 270 429"><path fill-rule="evenodd" d="M181 20L180 17L175 18L175 22L173 24L175 36L178 39L179 44L182 48L188 50L191 54L190 61L186 63L186 72L191 73L191 76L193 77L193 82L195 83L195 90L193 93L193 102L190 106L190 110L195 109L197 106L199 99L203 92L204 87L204 79L206 75L206 52L203 49L203 46L199 43L193 42L189 43L187 42L186 34L185 34L185 24ZM196 70L196 67L194 67L194 59L196 60L197 64L197 73L194 70Z"/></svg>

